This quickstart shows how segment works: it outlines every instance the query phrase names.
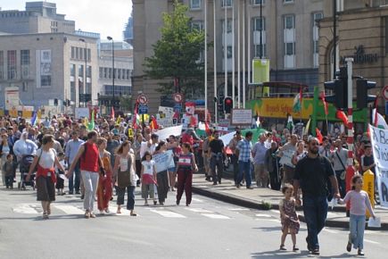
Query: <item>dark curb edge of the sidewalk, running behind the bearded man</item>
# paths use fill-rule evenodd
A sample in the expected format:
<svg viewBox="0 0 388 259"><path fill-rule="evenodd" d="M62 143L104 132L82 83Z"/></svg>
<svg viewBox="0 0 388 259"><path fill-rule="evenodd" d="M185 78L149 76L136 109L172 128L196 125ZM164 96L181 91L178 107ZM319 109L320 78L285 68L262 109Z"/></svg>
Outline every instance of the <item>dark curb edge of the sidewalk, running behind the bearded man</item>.
<svg viewBox="0 0 388 259"><path fill-rule="evenodd" d="M250 208L250 209L268 211L268 206L267 205L260 204L257 201L252 201L252 200L249 200L249 199L243 200L240 197L228 196L228 195L225 195L225 194L220 194L220 193L212 192L210 190L206 190L206 189L203 189L203 188L198 188L198 187L195 187L195 186L193 186L192 189L193 189L193 192L195 194L211 197L211 198L214 198L214 199L222 201L222 202L226 202L226 203L233 204L233 205L239 205L239 206L242 206L242 207L245 207L245 208ZM278 210L279 209L279 205L272 205L271 204L271 209ZM301 211L301 210L298 210L298 211ZM328 212L330 212L330 211L331 210L329 210ZM333 211L335 211L335 210L333 210ZM304 215L301 214L301 213L299 214L299 220L303 221L303 222L306 222ZM348 220L347 221L326 220L325 226L326 227L331 227L331 228L338 228L338 229L348 229L349 228L349 221ZM380 229L373 229L373 228L371 229L371 228L368 228L366 226L366 230L388 230L388 223L382 222Z"/></svg>

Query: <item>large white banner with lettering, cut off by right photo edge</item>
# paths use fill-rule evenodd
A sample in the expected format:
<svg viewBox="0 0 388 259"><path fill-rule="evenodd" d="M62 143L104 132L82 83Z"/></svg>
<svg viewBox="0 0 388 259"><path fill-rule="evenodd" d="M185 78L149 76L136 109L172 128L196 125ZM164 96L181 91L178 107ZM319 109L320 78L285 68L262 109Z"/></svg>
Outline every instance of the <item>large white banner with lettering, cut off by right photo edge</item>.
<svg viewBox="0 0 388 259"><path fill-rule="evenodd" d="M373 155L376 163L376 180L380 203L388 207L388 129L379 129L369 124Z"/></svg>

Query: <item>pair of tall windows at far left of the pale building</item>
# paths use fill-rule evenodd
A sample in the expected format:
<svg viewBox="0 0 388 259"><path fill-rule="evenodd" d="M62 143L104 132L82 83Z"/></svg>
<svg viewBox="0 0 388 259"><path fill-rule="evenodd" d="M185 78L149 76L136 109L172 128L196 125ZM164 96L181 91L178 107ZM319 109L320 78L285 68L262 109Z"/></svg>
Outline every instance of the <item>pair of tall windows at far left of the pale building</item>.
<svg viewBox="0 0 388 259"><path fill-rule="evenodd" d="M29 50L21 50L21 79L29 78ZM6 75L4 73L4 62L6 60ZM5 52L0 50L0 79L17 79L17 51L8 50Z"/></svg>

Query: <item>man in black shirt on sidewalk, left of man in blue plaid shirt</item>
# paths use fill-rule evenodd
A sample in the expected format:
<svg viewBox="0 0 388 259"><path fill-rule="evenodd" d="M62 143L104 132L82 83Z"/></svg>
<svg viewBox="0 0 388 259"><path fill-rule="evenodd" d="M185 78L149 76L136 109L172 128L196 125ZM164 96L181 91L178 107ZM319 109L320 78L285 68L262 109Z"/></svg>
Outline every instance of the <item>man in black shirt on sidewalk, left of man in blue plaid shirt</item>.
<svg viewBox="0 0 388 259"><path fill-rule="evenodd" d="M222 173L224 172L224 142L219 139L219 132L214 132L214 139L209 144L208 155L211 158L211 172L213 174L213 185L217 185L217 179L221 183ZM217 167L217 173L216 173Z"/></svg>

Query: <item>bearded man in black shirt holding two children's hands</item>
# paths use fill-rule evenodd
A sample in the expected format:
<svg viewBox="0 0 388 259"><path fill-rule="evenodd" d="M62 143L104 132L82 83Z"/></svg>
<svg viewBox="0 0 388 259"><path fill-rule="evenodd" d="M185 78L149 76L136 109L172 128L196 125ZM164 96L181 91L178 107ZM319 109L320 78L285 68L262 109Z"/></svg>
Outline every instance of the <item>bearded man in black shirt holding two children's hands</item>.
<svg viewBox="0 0 388 259"><path fill-rule="evenodd" d="M298 189L303 195L303 213L308 236L307 248L313 255L319 255L318 234L324 228L327 216L327 180L333 187L334 198L340 198L337 180L329 160L318 155L318 138L310 138L309 154L303 157L295 168L293 192L297 205L301 205Z"/></svg>

